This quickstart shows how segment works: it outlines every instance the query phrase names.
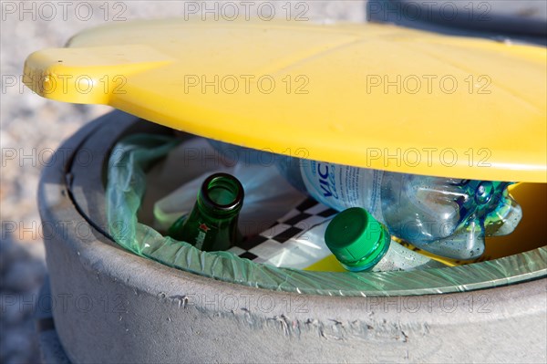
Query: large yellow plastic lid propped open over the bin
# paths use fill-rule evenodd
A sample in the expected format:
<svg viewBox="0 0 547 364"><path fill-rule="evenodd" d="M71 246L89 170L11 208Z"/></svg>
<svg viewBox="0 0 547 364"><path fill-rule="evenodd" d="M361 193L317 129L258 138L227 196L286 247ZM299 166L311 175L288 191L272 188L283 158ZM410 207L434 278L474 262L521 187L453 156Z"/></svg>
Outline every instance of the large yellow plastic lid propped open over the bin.
<svg viewBox="0 0 547 364"><path fill-rule="evenodd" d="M387 25L154 20L26 59L48 98L256 149L547 182L547 51Z"/></svg>

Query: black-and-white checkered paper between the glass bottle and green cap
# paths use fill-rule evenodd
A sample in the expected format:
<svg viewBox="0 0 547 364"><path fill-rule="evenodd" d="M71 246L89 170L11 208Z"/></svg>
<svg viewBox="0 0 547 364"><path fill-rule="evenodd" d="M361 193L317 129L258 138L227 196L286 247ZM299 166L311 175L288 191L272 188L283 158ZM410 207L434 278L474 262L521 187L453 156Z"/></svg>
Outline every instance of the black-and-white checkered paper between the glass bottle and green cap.
<svg viewBox="0 0 547 364"><path fill-rule="evenodd" d="M335 213L334 209L307 198L270 228L229 251L254 263L303 269L331 254L322 236L326 226L321 227L322 231L310 229L330 220Z"/></svg>

